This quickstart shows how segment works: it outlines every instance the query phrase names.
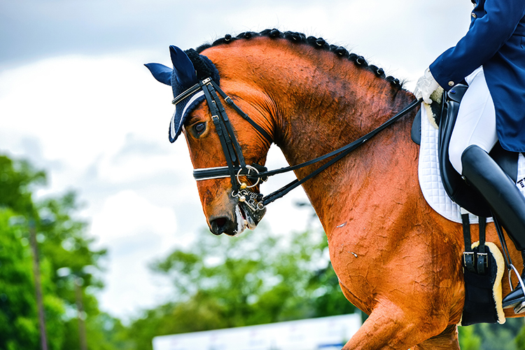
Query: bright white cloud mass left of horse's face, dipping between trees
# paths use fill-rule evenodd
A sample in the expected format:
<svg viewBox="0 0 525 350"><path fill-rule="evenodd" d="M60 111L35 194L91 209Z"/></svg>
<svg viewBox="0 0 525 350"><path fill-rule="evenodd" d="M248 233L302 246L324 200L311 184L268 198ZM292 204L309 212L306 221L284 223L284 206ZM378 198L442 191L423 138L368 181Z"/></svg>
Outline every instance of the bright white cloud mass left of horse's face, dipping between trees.
<svg viewBox="0 0 525 350"><path fill-rule="evenodd" d="M79 192L90 235L109 248L101 305L119 316L158 302L148 262L188 244L192 217L205 225L186 144L167 139L172 92L147 55L68 55L0 73L0 151L48 170L38 195Z"/></svg>

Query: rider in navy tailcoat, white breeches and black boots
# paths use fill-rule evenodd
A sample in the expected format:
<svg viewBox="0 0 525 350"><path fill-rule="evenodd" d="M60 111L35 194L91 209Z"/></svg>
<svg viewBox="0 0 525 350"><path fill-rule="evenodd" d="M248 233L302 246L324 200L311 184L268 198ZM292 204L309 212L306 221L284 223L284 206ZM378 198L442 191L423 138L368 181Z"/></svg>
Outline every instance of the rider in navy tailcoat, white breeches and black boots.
<svg viewBox="0 0 525 350"><path fill-rule="evenodd" d="M488 155L500 142L507 151L525 151L525 1L471 0L470 29L455 47L437 57L419 78L414 94L430 103L438 87L466 80L449 156L451 164L488 202L524 258L525 197ZM521 286L503 307L525 312Z"/></svg>

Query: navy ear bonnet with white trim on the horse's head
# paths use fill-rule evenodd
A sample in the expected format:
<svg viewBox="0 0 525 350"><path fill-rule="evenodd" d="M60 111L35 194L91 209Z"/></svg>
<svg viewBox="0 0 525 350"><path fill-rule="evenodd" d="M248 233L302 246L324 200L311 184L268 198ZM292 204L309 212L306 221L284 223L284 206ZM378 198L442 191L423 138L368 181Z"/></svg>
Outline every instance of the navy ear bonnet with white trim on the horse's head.
<svg viewBox="0 0 525 350"><path fill-rule="evenodd" d="M173 69L159 63L144 65L160 83L172 86L174 98L206 78L211 78L219 84L218 71L208 57L199 55L193 49L183 51L174 45L169 46L169 55L172 57ZM186 118L202 101L204 92L199 89L175 105L175 112L169 123L169 142L175 142L181 134Z"/></svg>

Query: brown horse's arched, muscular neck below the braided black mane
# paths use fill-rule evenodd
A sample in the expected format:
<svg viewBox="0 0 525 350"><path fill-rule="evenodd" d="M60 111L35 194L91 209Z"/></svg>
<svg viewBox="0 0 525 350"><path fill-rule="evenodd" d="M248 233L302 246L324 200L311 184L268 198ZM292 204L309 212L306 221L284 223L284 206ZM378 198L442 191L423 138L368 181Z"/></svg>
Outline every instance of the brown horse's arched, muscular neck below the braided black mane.
<svg viewBox="0 0 525 350"><path fill-rule="evenodd" d="M257 111L262 111L258 123L269 125L290 165L349 144L414 99L371 71L306 45L259 38L210 48L206 54L223 72L225 84L234 90L240 84L239 95L253 95L250 104L258 104ZM245 83L258 93L248 93ZM366 190L379 195L386 191L378 188L381 181L414 181L416 167L405 169L417 158L415 145L409 145L406 119L304 183L325 230L341 219L345 209L339 204L346 208L356 204L359 209L364 206L359 207L359 201L370 193ZM297 177L302 179L316 167L298 169Z"/></svg>

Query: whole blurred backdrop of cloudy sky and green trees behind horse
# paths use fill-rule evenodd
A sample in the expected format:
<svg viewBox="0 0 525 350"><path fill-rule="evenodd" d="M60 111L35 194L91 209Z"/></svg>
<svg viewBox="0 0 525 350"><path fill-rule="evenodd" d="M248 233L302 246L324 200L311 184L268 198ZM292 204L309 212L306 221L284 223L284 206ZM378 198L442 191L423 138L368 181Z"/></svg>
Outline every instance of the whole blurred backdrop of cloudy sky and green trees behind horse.
<svg viewBox="0 0 525 350"><path fill-rule="evenodd" d="M277 28L343 45L413 90L468 29L471 8L1 1L0 349L41 349L38 280L49 349L151 349L155 335L356 311L301 189L269 206L255 232L209 233L186 143L167 138L172 91L143 64L171 66L169 45ZM284 165L272 147L267 166ZM503 349L501 339L525 349L514 342L521 325L490 328L500 343L489 348L484 325L462 328L462 349Z"/></svg>

